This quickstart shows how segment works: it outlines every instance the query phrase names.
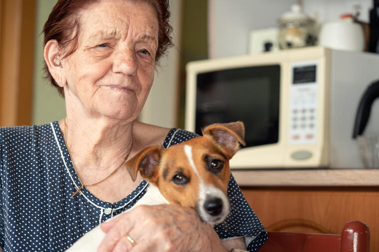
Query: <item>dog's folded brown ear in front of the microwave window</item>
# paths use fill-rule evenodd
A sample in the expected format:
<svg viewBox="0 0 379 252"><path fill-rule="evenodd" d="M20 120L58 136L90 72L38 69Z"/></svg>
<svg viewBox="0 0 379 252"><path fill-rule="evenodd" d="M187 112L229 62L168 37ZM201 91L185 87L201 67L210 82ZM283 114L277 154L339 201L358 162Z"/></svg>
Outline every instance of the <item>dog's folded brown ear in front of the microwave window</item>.
<svg viewBox="0 0 379 252"><path fill-rule="evenodd" d="M245 126L242 122L228 124L213 124L202 130L203 135L211 136L218 144L228 150L230 158L240 148L239 144L245 145Z"/></svg>

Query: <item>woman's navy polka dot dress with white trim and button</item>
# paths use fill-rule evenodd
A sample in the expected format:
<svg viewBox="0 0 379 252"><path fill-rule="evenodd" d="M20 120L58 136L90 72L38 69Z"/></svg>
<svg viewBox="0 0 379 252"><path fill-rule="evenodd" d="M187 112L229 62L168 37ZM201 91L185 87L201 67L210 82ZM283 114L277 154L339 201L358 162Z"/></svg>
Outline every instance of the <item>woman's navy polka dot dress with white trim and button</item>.
<svg viewBox="0 0 379 252"><path fill-rule="evenodd" d="M164 147L197 136L173 128ZM146 192L140 185L110 204L80 185L58 122L0 128L0 247L4 251L64 251L101 222L131 208ZM233 177L228 187L231 213L214 227L222 240L244 237L249 251L267 239Z"/></svg>

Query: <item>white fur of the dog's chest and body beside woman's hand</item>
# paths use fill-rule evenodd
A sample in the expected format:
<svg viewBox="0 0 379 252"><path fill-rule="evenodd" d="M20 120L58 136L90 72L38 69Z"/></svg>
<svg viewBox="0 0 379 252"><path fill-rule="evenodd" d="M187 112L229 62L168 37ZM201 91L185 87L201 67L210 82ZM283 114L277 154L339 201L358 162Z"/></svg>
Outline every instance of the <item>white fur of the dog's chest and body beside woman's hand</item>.
<svg viewBox="0 0 379 252"><path fill-rule="evenodd" d="M137 201L137 203L131 209L139 205L159 205L159 204L170 204L170 203L165 199L165 197L163 197L163 195L160 193L157 187L149 184L145 195L139 201ZM126 210L125 213L131 209ZM117 218L119 216L120 215L117 215L114 218ZM109 220L113 220L113 218ZM96 228L92 229L91 231L86 233L84 236L82 236L76 243L74 243L74 245L72 245L72 247L70 247L66 251L67 252L95 252L97 251L97 248L99 247L100 243L103 241L104 237L105 237L105 233L100 229L100 226L97 226Z"/></svg>

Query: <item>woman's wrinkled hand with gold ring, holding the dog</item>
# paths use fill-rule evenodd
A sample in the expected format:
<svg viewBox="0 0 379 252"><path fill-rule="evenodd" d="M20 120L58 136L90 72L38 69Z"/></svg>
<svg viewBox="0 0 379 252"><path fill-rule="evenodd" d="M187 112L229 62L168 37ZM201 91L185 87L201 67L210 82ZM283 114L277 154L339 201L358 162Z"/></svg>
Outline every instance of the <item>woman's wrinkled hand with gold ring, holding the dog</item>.
<svg viewBox="0 0 379 252"><path fill-rule="evenodd" d="M193 209L177 205L138 206L101 229L107 234L98 252L226 251L209 224Z"/></svg>

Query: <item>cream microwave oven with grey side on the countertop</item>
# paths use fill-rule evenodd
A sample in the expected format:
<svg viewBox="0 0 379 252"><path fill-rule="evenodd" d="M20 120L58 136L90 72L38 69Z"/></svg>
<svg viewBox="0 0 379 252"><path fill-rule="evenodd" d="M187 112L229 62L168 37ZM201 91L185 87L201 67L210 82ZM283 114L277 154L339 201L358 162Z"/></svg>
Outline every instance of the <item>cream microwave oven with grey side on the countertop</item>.
<svg viewBox="0 0 379 252"><path fill-rule="evenodd" d="M189 62L185 128L242 121L232 169L363 168L353 127L379 55L320 46ZM374 104L367 130L379 134Z"/></svg>

